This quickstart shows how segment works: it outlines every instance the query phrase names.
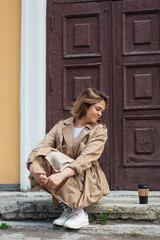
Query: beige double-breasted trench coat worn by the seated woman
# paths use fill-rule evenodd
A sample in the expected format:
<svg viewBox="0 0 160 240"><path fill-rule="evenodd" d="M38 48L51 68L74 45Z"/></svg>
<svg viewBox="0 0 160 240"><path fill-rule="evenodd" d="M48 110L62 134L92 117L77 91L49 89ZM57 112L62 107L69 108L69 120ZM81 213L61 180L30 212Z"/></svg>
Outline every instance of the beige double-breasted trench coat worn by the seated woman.
<svg viewBox="0 0 160 240"><path fill-rule="evenodd" d="M27 167L38 156L46 157L54 151L64 153L73 160L69 166L76 174L50 192L71 208L87 207L109 193L106 177L98 164L106 140L106 126L96 123L87 124L74 141L74 118L68 118L56 124L33 149ZM40 189L40 185L32 177L30 180L33 190Z"/></svg>

